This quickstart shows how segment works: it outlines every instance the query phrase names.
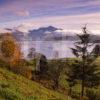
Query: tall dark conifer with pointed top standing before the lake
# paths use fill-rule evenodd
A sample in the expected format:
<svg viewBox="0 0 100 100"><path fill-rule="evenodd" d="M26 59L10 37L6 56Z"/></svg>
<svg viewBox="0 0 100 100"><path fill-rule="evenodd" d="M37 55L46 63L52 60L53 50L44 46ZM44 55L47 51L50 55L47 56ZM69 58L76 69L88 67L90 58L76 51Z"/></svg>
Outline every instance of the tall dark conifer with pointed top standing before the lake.
<svg viewBox="0 0 100 100"><path fill-rule="evenodd" d="M98 57L99 49L94 48L91 51L89 50L94 43L91 43L91 36L88 33L86 26L83 27L82 34L78 34L77 36L79 40L75 42L75 48L71 48L71 50L80 61L78 65L73 66L72 72L75 79L81 80L81 96L83 97L85 87L97 85L100 80L100 73L97 71L98 69L96 66L93 65L93 62Z"/></svg>

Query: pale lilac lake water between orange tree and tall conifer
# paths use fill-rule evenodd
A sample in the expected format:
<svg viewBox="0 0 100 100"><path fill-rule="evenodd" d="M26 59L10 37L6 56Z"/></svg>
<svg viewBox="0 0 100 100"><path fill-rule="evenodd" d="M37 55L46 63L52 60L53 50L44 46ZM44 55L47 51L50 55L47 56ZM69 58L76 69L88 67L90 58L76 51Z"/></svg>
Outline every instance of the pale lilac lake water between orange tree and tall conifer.
<svg viewBox="0 0 100 100"><path fill-rule="evenodd" d="M74 57L71 52L75 41L21 41L21 50L26 58L30 48L35 48L36 52L44 54L48 59Z"/></svg>

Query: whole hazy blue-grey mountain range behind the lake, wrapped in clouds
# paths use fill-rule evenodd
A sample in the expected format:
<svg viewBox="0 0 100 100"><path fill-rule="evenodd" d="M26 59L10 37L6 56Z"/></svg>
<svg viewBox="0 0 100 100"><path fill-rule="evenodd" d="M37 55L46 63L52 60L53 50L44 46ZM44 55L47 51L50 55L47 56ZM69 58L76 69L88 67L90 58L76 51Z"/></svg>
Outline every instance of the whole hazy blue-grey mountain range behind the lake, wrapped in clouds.
<svg viewBox="0 0 100 100"><path fill-rule="evenodd" d="M53 26L40 27L38 29L28 29L27 26L20 25L14 29L6 29L13 33L13 36L18 40L44 40L44 41L75 41L78 39L76 34L71 31L65 31L61 28ZM100 35L91 34L91 41L100 43Z"/></svg>

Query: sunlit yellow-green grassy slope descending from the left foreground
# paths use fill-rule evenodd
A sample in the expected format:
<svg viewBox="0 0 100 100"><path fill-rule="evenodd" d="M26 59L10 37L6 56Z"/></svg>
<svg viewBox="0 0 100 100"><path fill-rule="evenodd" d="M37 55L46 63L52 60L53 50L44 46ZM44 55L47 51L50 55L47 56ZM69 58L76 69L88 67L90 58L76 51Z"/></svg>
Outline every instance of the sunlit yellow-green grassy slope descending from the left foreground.
<svg viewBox="0 0 100 100"><path fill-rule="evenodd" d="M0 68L0 100L67 100L67 96Z"/></svg>

